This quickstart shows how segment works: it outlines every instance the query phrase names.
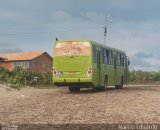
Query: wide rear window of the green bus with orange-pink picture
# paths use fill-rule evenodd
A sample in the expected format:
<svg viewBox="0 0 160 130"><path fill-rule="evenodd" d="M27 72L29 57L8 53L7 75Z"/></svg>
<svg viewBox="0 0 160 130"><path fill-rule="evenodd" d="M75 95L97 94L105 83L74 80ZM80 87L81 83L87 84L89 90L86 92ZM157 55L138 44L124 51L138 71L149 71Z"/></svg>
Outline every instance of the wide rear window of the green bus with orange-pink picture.
<svg viewBox="0 0 160 130"><path fill-rule="evenodd" d="M90 56L89 42L59 42L55 47L55 56Z"/></svg>

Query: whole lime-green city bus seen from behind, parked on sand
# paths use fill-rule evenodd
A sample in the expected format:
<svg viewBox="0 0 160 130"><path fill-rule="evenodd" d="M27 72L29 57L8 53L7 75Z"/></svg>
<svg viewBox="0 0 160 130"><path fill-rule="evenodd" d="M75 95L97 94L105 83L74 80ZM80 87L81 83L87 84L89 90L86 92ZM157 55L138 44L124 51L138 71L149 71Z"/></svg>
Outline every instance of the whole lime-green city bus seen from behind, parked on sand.
<svg viewBox="0 0 160 130"><path fill-rule="evenodd" d="M54 84L69 86L70 92L82 87L120 89L128 83L126 53L95 41L57 41L53 59Z"/></svg>

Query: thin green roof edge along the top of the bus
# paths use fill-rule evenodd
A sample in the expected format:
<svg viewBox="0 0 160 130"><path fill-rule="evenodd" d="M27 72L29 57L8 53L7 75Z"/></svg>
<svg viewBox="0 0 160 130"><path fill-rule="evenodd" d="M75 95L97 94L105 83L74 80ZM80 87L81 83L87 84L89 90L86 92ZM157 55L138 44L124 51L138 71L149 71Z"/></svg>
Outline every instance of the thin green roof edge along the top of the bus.
<svg viewBox="0 0 160 130"><path fill-rule="evenodd" d="M111 49L113 51L117 51L117 52L120 52L120 53L125 53L125 51L122 51L122 50L119 50L119 49L116 49L116 48L113 48L113 47L110 47L110 46L106 46L106 45L103 45L101 43L98 43L98 42L95 42L95 41L92 41L92 40L64 40L64 41L56 41L56 43L58 43L58 42L89 42L89 43L91 43L93 45L96 45L96 46L99 46L99 47L103 47L103 48L106 48L106 49Z"/></svg>

